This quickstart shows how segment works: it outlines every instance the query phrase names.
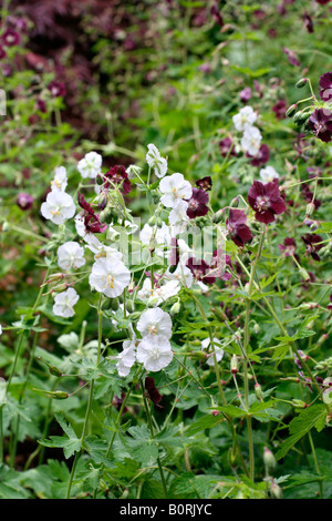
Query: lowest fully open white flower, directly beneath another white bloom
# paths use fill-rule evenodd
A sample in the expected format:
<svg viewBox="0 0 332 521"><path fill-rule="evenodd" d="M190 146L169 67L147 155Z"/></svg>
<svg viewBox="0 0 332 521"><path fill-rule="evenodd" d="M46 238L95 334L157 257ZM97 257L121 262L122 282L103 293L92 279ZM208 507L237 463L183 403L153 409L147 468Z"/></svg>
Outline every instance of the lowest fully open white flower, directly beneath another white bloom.
<svg viewBox="0 0 332 521"><path fill-rule="evenodd" d="M168 338L163 335L147 336L138 344L137 360L147 371L159 371L167 367L173 359Z"/></svg>

